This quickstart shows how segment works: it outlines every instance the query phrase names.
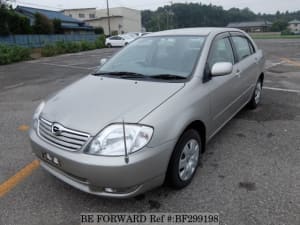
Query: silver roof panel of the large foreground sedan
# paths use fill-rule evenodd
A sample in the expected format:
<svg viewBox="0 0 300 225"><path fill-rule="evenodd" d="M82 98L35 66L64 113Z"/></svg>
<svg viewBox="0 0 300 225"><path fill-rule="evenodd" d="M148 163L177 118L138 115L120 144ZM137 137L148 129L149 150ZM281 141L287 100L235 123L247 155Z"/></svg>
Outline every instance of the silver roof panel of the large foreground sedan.
<svg viewBox="0 0 300 225"><path fill-rule="evenodd" d="M152 36L168 36L168 35L201 35L207 36L211 33L222 33L222 32L243 32L235 28L226 28L226 27L197 27L197 28L182 28L174 30L165 30L155 33L148 34L147 37Z"/></svg>

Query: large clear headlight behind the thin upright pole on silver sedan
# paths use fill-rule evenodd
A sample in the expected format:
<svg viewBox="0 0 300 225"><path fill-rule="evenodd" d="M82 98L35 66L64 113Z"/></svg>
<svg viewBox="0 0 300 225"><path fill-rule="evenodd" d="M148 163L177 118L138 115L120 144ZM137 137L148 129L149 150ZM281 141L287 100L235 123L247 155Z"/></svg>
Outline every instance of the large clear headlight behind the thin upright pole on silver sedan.
<svg viewBox="0 0 300 225"><path fill-rule="evenodd" d="M87 152L93 155L123 156L143 148L150 141L153 128L139 124L112 124L101 131L89 145ZM125 139L124 139L125 130Z"/></svg>

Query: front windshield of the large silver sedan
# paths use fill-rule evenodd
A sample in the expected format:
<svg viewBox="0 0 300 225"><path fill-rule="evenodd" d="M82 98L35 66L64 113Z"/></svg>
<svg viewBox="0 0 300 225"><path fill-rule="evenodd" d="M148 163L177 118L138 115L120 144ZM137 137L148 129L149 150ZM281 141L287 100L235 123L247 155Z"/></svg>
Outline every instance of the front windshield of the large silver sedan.
<svg viewBox="0 0 300 225"><path fill-rule="evenodd" d="M112 57L97 73L187 78L193 72L204 41L203 36L139 38Z"/></svg>

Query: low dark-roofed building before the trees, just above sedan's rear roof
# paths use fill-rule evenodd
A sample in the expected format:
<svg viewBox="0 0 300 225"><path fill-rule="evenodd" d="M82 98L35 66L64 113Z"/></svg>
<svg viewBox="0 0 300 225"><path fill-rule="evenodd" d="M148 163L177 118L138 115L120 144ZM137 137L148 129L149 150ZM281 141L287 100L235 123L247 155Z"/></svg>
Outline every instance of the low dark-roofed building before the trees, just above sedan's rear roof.
<svg viewBox="0 0 300 225"><path fill-rule="evenodd" d="M269 21L250 21L250 22L237 22L229 23L227 27L238 28L248 33L255 32L268 32L270 31L272 23Z"/></svg>

